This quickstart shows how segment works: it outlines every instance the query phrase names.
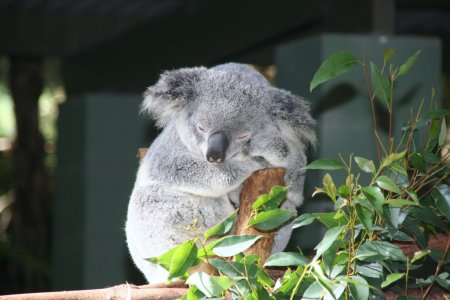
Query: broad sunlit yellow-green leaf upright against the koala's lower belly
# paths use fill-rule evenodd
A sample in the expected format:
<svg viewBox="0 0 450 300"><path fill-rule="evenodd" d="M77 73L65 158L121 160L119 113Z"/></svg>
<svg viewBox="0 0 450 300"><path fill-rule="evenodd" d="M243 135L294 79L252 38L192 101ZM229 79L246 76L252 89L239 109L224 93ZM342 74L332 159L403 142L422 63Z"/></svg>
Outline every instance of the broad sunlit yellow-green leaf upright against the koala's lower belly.
<svg viewBox="0 0 450 300"><path fill-rule="evenodd" d="M197 262L198 248L194 241L184 242L173 253L169 268L169 279L181 277Z"/></svg>

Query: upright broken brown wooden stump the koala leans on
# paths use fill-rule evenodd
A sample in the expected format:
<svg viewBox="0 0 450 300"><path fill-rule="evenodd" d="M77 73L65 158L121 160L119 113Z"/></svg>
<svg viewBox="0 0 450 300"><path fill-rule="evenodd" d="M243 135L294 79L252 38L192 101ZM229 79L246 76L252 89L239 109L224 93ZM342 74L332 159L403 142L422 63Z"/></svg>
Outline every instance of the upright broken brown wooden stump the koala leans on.
<svg viewBox="0 0 450 300"><path fill-rule="evenodd" d="M235 233L238 235L259 234L263 236L262 239L245 251L246 255L257 254L260 257L261 264L264 264L272 251L275 230L260 231L256 228L247 226L247 222L251 217L253 202L255 202L260 195L268 194L273 186L284 185L284 173L285 170L283 168L256 171L244 182L240 195L239 214Z"/></svg>

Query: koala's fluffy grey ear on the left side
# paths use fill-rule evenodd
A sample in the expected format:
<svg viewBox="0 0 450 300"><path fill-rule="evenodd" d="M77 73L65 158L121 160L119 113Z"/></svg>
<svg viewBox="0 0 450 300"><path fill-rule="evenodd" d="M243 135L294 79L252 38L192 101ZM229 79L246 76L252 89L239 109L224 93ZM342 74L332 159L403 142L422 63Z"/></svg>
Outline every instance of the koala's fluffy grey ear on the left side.
<svg viewBox="0 0 450 300"><path fill-rule="evenodd" d="M196 83L207 69L183 68L166 71L161 74L158 82L144 93L141 111L150 113L159 127L182 110L195 97Z"/></svg>

